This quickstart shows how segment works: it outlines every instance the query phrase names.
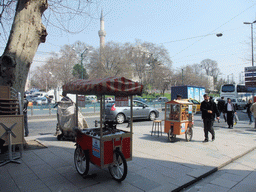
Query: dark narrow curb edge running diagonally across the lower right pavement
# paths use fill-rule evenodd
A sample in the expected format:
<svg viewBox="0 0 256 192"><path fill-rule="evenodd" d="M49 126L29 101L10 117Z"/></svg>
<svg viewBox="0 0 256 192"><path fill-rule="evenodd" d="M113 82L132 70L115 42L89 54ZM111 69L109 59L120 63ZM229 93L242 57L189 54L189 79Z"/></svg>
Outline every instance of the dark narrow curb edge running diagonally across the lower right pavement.
<svg viewBox="0 0 256 192"><path fill-rule="evenodd" d="M182 185L182 186L180 186L180 187L178 187L178 188L172 190L172 192L179 192L179 191L184 190L185 188L187 188L187 187L193 185L194 183L200 181L201 179L203 179L203 178L205 178L205 177L210 176L211 174L217 172L217 171L220 170L221 168L223 168L223 167L227 166L228 164L230 164L230 163L236 161L237 159L239 159L239 158L241 158L241 157L247 155L248 153L252 152L252 151L255 150L255 149L256 149L256 146L253 147L253 148L251 148L251 149L249 149L249 150L247 150L247 151L245 151L245 152L242 153L241 155L237 155L236 157L234 157L234 158L228 160L227 162L221 164L220 166L213 168L212 170L210 170L210 171L204 173L203 175L201 175L201 176L195 178L194 180L192 180L192 181L190 181L190 182L188 182L188 183L185 183L184 185Z"/></svg>

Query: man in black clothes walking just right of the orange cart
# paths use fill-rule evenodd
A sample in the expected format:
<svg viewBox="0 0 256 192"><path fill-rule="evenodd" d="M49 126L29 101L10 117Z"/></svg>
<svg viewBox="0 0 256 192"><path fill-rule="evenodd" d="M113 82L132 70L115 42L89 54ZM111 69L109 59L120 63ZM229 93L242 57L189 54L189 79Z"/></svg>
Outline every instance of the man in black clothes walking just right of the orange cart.
<svg viewBox="0 0 256 192"><path fill-rule="evenodd" d="M215 140L215 132L213 129L213 122L215 119L215 115L217 115L217 119L219 119L219 111L217 109L216 103L210 100L208 94L204 94L204 101L201 103L200 110L202 111L202 119L204 122L204 141L208 142L208 132L212 134L212 141Z"/></svg>

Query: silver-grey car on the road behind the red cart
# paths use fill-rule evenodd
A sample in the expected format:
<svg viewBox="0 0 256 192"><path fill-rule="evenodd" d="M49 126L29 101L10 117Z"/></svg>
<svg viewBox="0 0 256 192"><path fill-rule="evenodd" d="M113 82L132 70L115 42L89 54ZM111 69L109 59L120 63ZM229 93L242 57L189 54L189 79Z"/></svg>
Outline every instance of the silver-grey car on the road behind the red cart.
<svg viewBox="0 0 256 192"><path fill-rule="evenodd" d="M153 121L159 117L159 111L155 108L149 107L147 104L140 101L133 101L133 118L134 119L149 119ZM117 123L123 123L130 118L130 106L116 107L115 103L106 104L105 108L105 120L116 121Z"/></svg>

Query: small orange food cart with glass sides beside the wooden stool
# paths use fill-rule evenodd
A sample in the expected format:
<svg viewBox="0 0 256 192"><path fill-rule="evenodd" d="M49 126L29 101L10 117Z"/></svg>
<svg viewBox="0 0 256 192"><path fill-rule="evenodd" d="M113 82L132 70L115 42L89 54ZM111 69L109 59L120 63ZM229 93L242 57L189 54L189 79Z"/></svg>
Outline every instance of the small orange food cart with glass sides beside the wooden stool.
<svg viewBox="0 0 256 192"><path fill-rule="evenodd" d="M170 141L175 141L176 135L185 134L186 141L193 136L193 103L184 100L173 100L165 103L164 132Z"/></svg>

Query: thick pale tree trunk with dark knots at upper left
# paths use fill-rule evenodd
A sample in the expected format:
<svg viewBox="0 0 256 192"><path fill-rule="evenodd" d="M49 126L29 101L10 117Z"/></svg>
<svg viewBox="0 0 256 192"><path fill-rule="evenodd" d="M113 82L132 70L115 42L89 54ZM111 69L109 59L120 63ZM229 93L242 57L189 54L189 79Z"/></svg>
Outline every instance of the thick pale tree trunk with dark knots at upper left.
<svg viewBox="0 0 256 192"><path fill-rule="evenodd" d="M46 40L42 14L47 7L47 0L17 2L10 36L0 58L0 85L13 87L22 95L37 48Z"/></svg>

